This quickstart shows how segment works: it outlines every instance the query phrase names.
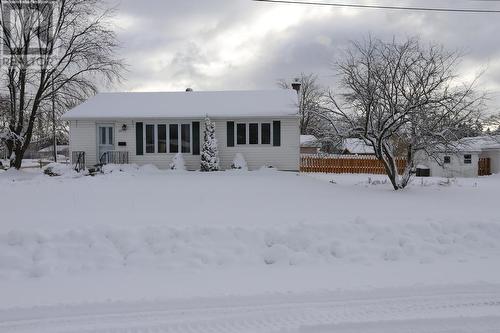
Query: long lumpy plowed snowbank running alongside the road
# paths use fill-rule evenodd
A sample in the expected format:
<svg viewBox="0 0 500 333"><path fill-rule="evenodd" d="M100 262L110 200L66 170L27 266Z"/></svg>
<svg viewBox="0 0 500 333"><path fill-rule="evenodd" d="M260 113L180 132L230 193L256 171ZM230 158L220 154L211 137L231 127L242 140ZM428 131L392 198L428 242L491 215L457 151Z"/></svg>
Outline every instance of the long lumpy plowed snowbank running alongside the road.
<svg viewBox="0 0 500 333"><path fill-rule="evenodd" d="M288 228L103 227L0 234L0 277L126 268L165 270L500 260L500 225L373 225L358 219ZM424 267L424 266L423 266ZM423 268L424 269L424 268Z"/></svg>

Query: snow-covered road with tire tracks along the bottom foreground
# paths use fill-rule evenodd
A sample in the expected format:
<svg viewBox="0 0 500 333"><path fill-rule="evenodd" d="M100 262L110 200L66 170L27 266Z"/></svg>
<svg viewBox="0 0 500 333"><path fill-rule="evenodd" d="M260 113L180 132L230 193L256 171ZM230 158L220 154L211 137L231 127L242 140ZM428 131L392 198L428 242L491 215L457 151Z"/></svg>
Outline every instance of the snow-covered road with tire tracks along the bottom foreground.
<svg viewBox="0 0 500 333"><path fill-rule="evenodd" d="M500 332L500 286L84 304L0 312L4 333Z"/></svg>

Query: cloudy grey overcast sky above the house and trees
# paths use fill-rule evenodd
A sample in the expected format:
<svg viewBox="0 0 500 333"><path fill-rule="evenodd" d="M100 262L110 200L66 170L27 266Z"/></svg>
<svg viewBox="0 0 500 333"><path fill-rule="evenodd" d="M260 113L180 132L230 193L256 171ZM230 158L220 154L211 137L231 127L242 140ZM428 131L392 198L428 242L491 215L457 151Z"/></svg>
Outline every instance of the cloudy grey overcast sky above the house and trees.
<svg viewBox="0 0 500 333"><path fill-rule="evenodd" d="M500 9L500 2L487 0L343 2ZM332 86L332 64L350 40L368 34L383 39L420 36L464 52L464 78L486 69L482 88L492 93L491 108L500 110L500 14L339 9L250 0L114 3L120 57L129 65L126 80L114 90L273 89L278 79L292 79L300 72L316 73L322 84Z"/></svg>

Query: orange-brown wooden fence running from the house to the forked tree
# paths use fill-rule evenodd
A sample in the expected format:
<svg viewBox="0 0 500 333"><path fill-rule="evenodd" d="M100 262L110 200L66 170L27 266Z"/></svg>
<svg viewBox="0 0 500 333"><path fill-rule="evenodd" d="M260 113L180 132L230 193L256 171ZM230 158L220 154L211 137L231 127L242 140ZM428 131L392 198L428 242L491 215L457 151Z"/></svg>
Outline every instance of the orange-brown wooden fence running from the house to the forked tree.
<svg viewBox="0 0 500 333"><path fill-rule="evenodd" d="M400 174L406 168L406 159L398 158L396 161ZM303 155L300 158L300 171L313 173L353 173L385 175L382 162L373 156L349 155Z"/></svg>

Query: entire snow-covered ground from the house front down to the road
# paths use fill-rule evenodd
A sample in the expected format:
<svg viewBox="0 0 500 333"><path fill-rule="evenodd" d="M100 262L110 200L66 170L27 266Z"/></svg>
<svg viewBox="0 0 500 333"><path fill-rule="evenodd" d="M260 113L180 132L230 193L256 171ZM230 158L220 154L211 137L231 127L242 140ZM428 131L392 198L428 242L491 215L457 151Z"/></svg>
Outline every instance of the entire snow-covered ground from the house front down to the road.
<svg viewBox="0 0 500 333"><path fill-rule="evenodd" d="M0 191L1 332L500 332L497 176L124 166Z"/></svg>

